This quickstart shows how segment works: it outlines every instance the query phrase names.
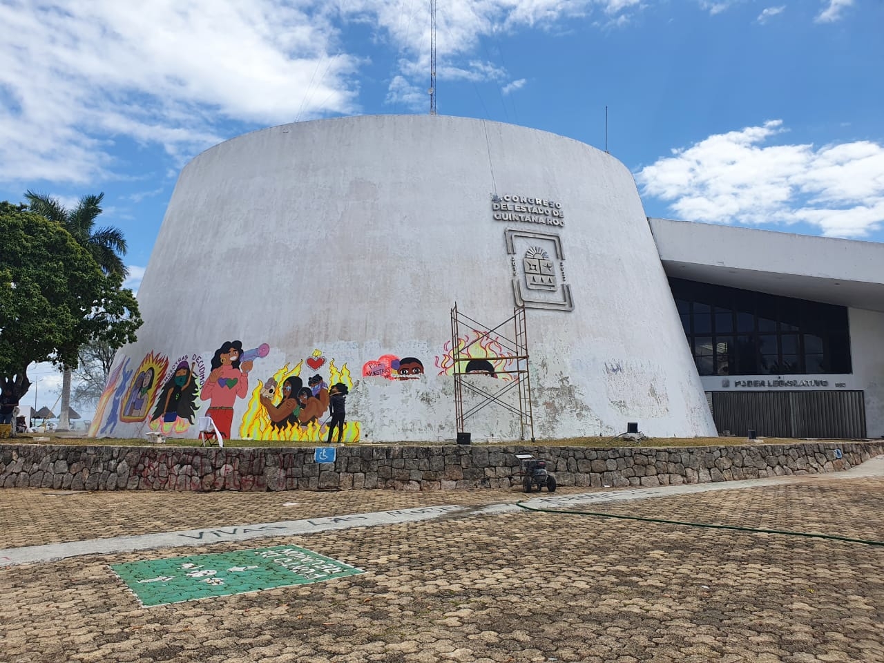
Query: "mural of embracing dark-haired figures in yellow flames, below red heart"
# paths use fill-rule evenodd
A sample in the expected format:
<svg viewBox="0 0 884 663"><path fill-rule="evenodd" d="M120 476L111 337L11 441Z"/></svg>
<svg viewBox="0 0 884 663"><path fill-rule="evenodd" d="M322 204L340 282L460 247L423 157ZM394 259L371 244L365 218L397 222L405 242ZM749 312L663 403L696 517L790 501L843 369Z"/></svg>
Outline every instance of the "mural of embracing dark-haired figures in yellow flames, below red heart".
<svg viewBox="0 0 884 663"><path fill-rule="evenodd" d="M326 366L327 364L327 366ZM329 381L314 373L304 385L303 371L326 367ZM248 400L248 409L240 424L240 438L322 442L328 433L329 384L353 386L347 364L340 369L333 359L327 361L319 350L293 368L286 363L265 382L258 381ZM343 441L360 438L361 424L347 422Z"/></svg>

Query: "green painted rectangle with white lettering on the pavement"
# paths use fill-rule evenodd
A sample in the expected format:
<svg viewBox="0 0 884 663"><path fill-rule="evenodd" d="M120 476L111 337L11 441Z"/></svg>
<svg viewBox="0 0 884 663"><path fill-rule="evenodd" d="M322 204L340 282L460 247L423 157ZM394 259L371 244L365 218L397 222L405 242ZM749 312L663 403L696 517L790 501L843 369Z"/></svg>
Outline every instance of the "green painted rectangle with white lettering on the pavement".
<svg viewBox="0 0 884 663"><path fill-rule="evenodd" d="M297 545L113 564L142 606L231 596L362 573Z"/></svg>

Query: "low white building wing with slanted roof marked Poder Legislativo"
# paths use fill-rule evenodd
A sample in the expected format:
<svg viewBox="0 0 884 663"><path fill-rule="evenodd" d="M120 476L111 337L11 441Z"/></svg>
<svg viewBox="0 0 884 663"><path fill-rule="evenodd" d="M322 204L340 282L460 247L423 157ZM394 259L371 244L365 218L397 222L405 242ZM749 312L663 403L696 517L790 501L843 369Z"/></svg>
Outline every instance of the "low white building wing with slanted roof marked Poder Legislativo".
<svg viewBox="0 0 884 663"><path fill-rule="evenodd" d="M719 431L884 436L884 244L650 224Z"/></svg>

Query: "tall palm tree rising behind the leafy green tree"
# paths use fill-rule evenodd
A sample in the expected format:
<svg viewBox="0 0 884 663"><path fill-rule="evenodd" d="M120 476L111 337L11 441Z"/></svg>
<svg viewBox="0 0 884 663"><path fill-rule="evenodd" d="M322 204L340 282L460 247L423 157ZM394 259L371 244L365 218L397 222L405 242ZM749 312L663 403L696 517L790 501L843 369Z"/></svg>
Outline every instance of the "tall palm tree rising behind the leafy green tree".
<svg viewBox="0 0 884 663"><path fill-rule="evenodd" d="M113 226L95 230L95 218L102 213L103 193L82 196L73 210L67 210L56 198L36 194L30 189L25 197L31 211L55 221L70 232L73 239L95 258L105 274L126 278L128 270L122 257L126 255L126 238L123 232ZM71 368L65 366L61 387L61 412L58 415L59 431L66 431L70 426L68 413L71 408L71 374Z"/></svg>

